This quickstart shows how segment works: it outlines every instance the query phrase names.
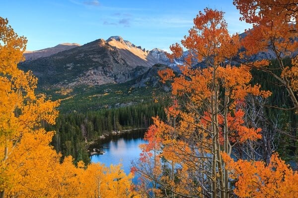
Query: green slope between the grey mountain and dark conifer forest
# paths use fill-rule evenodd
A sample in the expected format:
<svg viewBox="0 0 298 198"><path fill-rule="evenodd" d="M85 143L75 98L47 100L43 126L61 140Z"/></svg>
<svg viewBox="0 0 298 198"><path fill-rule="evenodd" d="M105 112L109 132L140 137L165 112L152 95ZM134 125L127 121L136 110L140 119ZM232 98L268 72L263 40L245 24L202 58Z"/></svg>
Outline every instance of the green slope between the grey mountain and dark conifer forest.
<svg viewBox="0 0 298 198"><path fill-rule="evenodd" d="M122 105L137 104L152 100L155 96L163 95L159 89L133 88L134 81L121 84L106 84L101 86L78 86L74 89L38 90L45 93L49 99L61 99L60 112L87 112L102 108L113 108ZM63 94L62 92L65 92Z"/></svg>

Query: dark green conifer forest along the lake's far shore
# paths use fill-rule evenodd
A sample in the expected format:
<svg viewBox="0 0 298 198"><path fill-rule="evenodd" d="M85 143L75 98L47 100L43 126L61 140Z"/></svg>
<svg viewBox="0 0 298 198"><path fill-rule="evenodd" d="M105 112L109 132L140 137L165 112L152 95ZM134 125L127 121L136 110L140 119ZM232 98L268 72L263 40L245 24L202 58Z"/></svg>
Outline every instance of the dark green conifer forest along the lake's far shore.
<svg viewBox="0 0 298 198"><path fill-rule="evenodd" d="M163 105L156 102L143 102L126 107L101 109L97 111L60 114L56 125L52 145L63 156L72 155L75 163L83 160L90 162L87 143L100 136L111 136L112 132L126 129L146 129L152 124L152 117L165 118Z"/></svg>

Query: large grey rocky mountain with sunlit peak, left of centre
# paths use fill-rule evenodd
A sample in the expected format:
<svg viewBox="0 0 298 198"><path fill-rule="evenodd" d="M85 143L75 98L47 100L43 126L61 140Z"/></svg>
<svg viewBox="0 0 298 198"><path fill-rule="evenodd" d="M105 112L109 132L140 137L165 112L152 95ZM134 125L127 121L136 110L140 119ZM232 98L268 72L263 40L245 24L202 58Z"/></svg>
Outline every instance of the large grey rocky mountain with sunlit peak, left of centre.
<svg viewBox="0 0 298 198"><path fill-rule="evenodd" d="M55 48L55 47L54 47ZM122 83L134 79L156 63L150 51L135 46L119 36L98 39L83 46L60 51L19 64L32 70L39 86L75 87Z"/></svg>

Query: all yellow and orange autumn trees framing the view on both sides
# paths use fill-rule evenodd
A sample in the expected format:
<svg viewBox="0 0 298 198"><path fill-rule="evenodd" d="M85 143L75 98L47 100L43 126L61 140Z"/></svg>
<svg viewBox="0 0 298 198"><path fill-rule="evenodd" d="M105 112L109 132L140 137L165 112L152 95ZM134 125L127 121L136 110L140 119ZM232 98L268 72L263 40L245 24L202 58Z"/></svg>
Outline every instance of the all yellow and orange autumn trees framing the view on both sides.
<svg viewBox="0 0 298 198"><path fill-rule="evenodd" d="M233 0L240 20L253 25L244 35L230 35L224 12L206 8L194 19L170 58L188 50L180 72L159 72L171 82L166 119L153 118L141 145L140 160L126 175L121 165L85 165L61 159L50 142L59 101L35 94L37 79L17 68L26 39L0 18L0 198L296 198L298 173L277 152L268 161L249 155L264 128L248 121L248 97L272 95L251 84L251 70L266 72L284 87L298 112L297 2ZM270 51L270 60L254 55ZM289 55L292 64L283 57ZM200 63L200 64L198 64ZM283 107L277 107L285 109ZM241 151L241 154L238 153ZM61 162L62 161L62 162ZM138 185L132 185L136 174ZM136 191L137 190L137 191Z"/></svg>

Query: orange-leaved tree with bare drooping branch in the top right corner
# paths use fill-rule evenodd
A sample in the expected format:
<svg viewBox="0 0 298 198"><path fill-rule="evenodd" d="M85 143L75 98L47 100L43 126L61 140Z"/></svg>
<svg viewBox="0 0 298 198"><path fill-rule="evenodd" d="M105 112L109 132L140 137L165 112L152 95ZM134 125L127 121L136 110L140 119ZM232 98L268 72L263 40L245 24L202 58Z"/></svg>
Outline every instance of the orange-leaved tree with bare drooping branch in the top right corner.
<svg viewBox="0 0 298 198"><path fill-rule="evenodd" d="M272 75L286 88L293 102L293 109L298 113L297 79L297 2L295 0L233 0L239 9L240 20L251 23L253 28L247 30L241 40L245 48L240 57L249 60L252 55L261 51L270 51L278 60L278 66L268 68L269 62L265 60L247 62L246 65L258 68ZM284 63L283 57L291 56L292 66ZM240 62L244 62L241 60ZM275 71L280 71L278 75Z"/></svg>

